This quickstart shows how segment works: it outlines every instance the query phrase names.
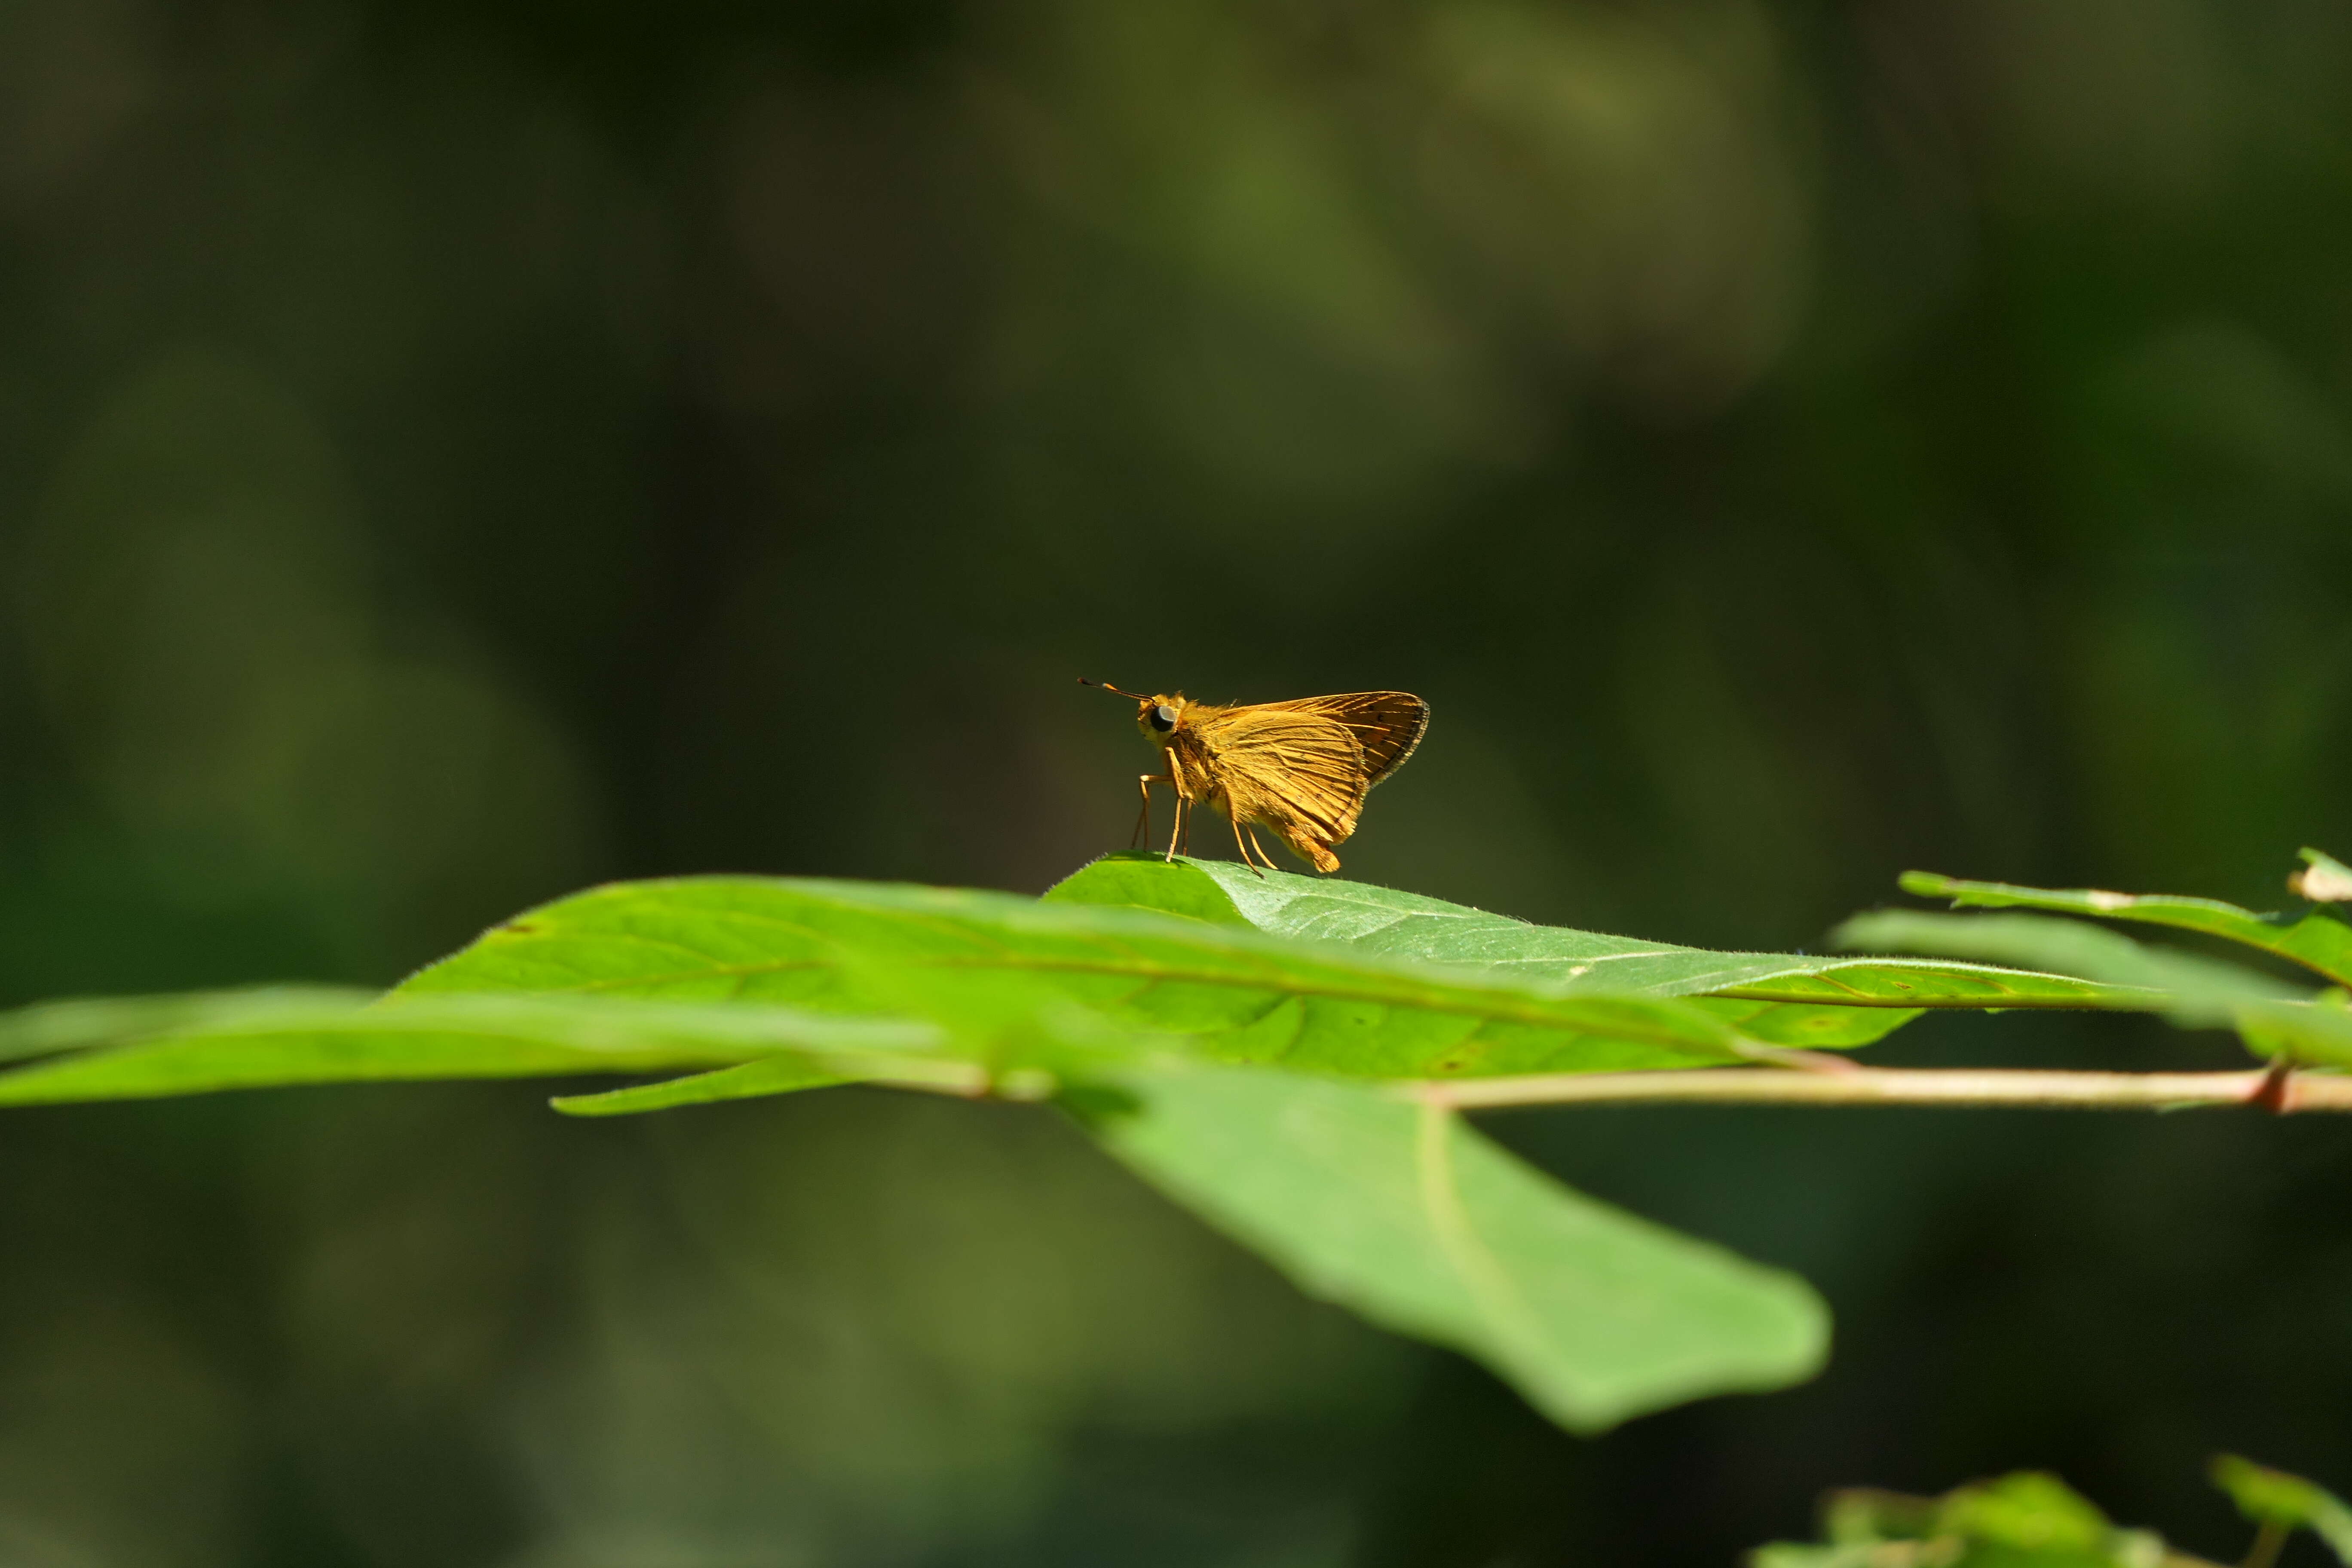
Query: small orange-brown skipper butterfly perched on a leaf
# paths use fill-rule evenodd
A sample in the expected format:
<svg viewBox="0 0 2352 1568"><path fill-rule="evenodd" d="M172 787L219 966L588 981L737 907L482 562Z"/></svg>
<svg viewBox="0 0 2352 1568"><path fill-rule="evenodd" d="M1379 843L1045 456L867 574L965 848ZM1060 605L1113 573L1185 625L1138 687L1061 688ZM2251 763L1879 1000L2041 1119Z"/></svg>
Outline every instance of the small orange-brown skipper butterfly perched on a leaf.
<svg viewBox="0 0 2352 1568"><path fill-rule="evenodd" d="M1334 844L1345 844L1364 813L1364 795L1414 755L1430 726L1430 705L1409 691L1303 696L1294 703L1218 708L1185 693L1136 696L1080 677L1136 703L1136 726L1160 748L1167 773L1143 773L1136 842L1150 835L1152 785L1176 790L1176 830L1167 858L1190 842L1190 811L1209 802L1232 820L1232 842L1251 870L1272 867L1251 827L1336 872ZM1256 853L1251 853L1256 851ZM1263 872L1258 872L1263 875Z"/></svg>

